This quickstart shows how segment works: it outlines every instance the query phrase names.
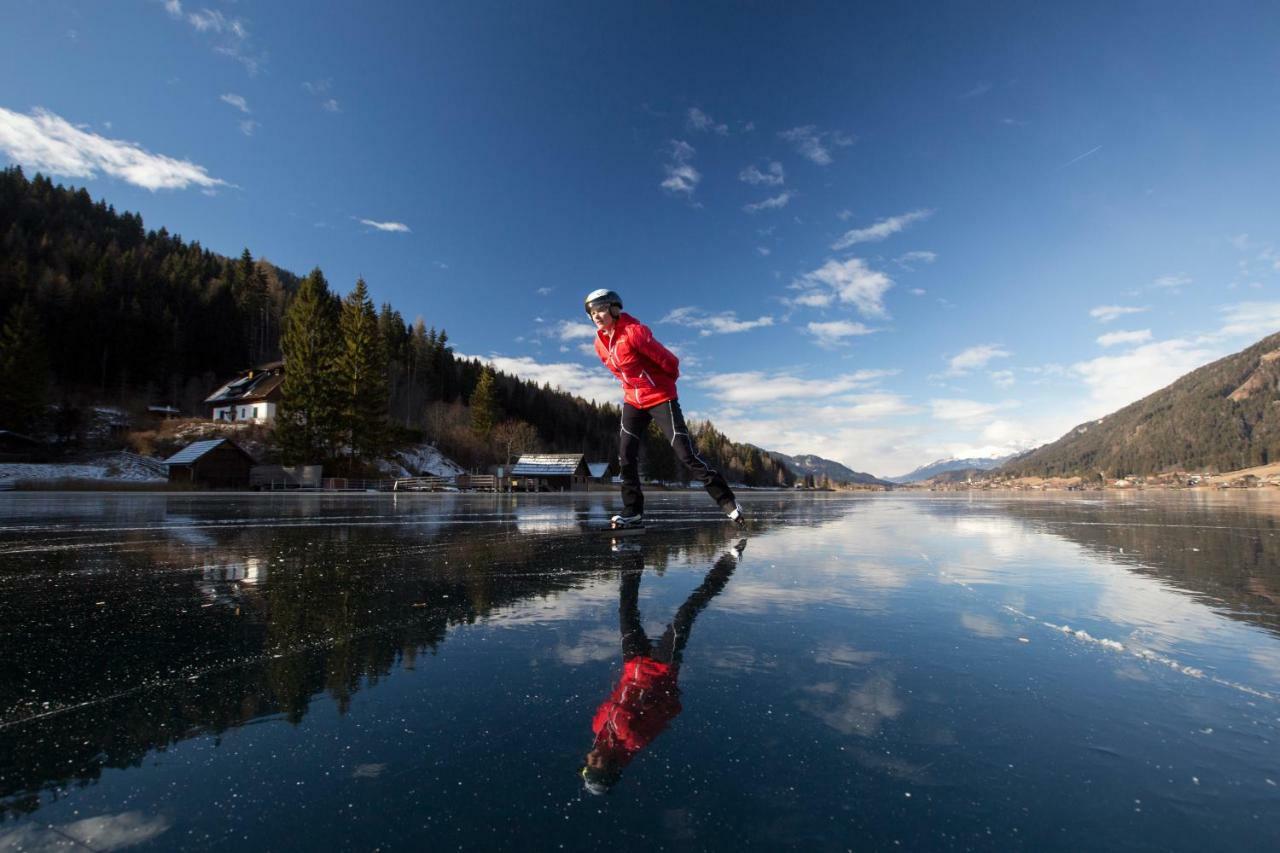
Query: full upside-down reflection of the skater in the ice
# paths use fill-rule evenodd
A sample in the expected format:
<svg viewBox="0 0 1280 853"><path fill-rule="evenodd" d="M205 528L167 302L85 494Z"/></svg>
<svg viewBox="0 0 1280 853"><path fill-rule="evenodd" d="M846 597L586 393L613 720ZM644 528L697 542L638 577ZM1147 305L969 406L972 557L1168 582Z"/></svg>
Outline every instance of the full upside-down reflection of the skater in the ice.
<svg viewBox="0 0 1280 853"><path fill-rule="evenodd" d="M618 583L618 617L622 630L622 678L595 711L595 743L586 753L582 781L591 794L608 793L622 768L680 713L680 662L694 619L724 589L737 567L746 540L726 553L689 594L662 638L654 643L640 624L640 575L644 566L623 569Z"/></svg>

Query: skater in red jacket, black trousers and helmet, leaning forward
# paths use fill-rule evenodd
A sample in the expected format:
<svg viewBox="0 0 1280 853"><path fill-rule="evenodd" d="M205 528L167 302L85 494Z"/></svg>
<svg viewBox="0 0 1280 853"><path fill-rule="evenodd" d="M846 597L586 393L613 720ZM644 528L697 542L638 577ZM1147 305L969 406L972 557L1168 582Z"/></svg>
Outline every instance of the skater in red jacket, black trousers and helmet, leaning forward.
<svg viewBox="0 0 1280 853"><path fill-rule="evenodd" d="M622 311L622 297L609 289L591 291L584 300L595 323L595 353L622 383L622 425L618 433L618 465L622 478L622 511L614 526L644 524L644 492L640 491L640 441L649 421L658 424L680 461L692 471L724 515L739 526L746 524L742 507L719 471L694 450L680 411L676 379L680 359L658 343L644 323Z"/></svg>

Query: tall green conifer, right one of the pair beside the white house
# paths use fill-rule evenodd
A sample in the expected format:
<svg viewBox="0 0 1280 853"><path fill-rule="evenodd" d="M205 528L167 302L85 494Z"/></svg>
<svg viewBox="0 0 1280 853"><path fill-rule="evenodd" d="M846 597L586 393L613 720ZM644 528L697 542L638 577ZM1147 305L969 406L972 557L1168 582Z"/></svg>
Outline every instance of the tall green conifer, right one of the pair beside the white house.
<svg viewBox="0 0 1280 853"><path fill-rule="evenodd" d="M383 451L387 437L387 346L365 279L342 302L338 392L343 438L352 467Z"/></svg>

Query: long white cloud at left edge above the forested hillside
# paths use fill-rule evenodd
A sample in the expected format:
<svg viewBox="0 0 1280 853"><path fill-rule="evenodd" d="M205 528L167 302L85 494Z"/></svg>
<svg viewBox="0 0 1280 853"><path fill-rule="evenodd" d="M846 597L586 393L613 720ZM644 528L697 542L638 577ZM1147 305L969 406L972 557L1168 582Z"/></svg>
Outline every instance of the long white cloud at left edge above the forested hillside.
<svg viewBox="0 0 1280 853"><path fill-rule="evenodd" d="M230 186L195 163L82 131L38 108L32 115L23 115L0 106L0 151L14 163L40 172L72 178L95 178L101 172L152 192Z"/></svg>

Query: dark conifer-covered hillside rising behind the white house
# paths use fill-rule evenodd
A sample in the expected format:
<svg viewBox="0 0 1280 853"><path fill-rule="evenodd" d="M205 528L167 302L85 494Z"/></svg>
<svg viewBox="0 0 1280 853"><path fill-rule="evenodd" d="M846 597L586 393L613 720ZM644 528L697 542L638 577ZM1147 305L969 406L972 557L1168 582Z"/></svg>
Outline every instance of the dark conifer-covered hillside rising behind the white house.
<svg viewBox="0 0 1280 853"><path fill-rule="evenodd" d="M316 277L324 283L319 269L308 274ZM220 383L288 355L282 336L301 284L298 275L248 248L227 257L164 228L147 231L138 214L119 213L83 188L40 174L28 179L18 167L4 169L0 428L54 434L95 405L168 405L207 418L202 401ZM360 391L384 411L361 450L430 441L468 467L530 450L613 459L616 406L457 359L443 325L424 318L406 321L388 304L376 313L357 305L367 296L362 283L355 284L340 302L326 283L321 289L334 311L348 305L351 316L375 314L367 319L376 323L376 334L361 345L372 350L361 355L385 375L376 388ZM340 371L338 361L312 366ZM709 423L691 426L701 455L731 480L794 483L783 465L759 450L733 443ZM330 452L335 444L330 441ZM347 453L351 461L349 447ZM652 476L682 476L657 432L643 461Z"/></svg>

